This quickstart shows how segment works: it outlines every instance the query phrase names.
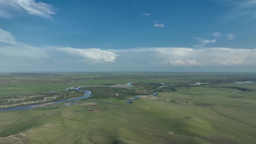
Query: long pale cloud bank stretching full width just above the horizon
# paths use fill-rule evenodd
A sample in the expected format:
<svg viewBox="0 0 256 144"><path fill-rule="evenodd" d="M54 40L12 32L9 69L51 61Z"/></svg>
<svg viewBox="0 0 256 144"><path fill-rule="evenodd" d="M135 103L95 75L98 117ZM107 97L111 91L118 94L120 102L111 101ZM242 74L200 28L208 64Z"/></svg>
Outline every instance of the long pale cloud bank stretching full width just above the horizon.
<svg viewBox="0 0 256 144"><path fill-rule="evenodd" d="M200 42L202 46L214 41ZM16 42L11 33L0 30L0 71L134 71L155 67L171 71L174 67L191 70L220 66L256 70L256 49L36 47Z"/></svg>

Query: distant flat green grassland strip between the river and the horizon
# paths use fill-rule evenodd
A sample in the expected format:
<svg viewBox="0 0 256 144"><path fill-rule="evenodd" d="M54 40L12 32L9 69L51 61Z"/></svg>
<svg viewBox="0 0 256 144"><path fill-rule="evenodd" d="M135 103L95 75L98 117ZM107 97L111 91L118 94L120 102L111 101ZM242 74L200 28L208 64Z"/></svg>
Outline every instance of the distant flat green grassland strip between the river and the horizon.
<svg viewBox="0 0 256 144"><path fill-rule="evenodd" d="M249 78L251 77L251 78ZM224 79L225 78L225 79ZM72 86L103 86L129 82L191 84L256 80L252 73L51 73L0 74L0 96L62 91Z"/></svg>

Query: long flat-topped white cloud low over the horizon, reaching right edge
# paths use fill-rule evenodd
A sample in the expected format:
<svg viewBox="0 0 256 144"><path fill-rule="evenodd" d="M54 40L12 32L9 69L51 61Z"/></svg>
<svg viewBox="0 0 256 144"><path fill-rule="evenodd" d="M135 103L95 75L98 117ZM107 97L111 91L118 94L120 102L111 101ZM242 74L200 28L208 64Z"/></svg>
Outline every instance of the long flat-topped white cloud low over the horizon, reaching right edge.
<svg viewBox="0 0 256 144"><path fill-rule="evenodd" d="M136 48L110 50L119 57L116 62L159 66L256 65L256 49L231 48ZM130 64L130 63L129 63Z"/></svg>

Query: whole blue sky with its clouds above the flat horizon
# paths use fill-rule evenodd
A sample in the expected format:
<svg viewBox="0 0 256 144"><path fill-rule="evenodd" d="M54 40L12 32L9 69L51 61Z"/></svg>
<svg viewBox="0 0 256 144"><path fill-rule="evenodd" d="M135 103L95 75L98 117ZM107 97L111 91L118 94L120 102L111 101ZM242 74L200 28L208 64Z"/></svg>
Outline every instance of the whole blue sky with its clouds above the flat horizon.
<svg viewBox="0 0 256 144"><path fill-rule="evenodd" d="M0 0L0 72L256 72L256 0Z"/></svg>

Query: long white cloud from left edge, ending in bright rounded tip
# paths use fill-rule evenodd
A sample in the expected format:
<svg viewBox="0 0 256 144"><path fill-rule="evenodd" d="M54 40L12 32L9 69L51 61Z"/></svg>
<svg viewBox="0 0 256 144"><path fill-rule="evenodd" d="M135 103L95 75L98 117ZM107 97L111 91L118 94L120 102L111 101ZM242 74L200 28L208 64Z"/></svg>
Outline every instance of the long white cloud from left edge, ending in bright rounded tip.
<svg viewBox="0 0 256 144"><path fill-rule="evenodd" d="M39 59L48 58L52 53L57 53L57 55L62 55L65 52L68 55L73 55L76 57L81 57L83 60L89 60L91 62L113 62L116 59L116 54L107 50L101 49L76 49L68 47L55 47L55 46L45 46L45 47L34 47L23 43L18 43L15 41L12 34L8 31L0 29L0 43L11 44L12 46L1 46L0 55L3 57L8 57L10 59L15 57L22 57L27 59ZM59 56L60 57L60 56ZM65 59L65 57L60 57Z"/></svg>

